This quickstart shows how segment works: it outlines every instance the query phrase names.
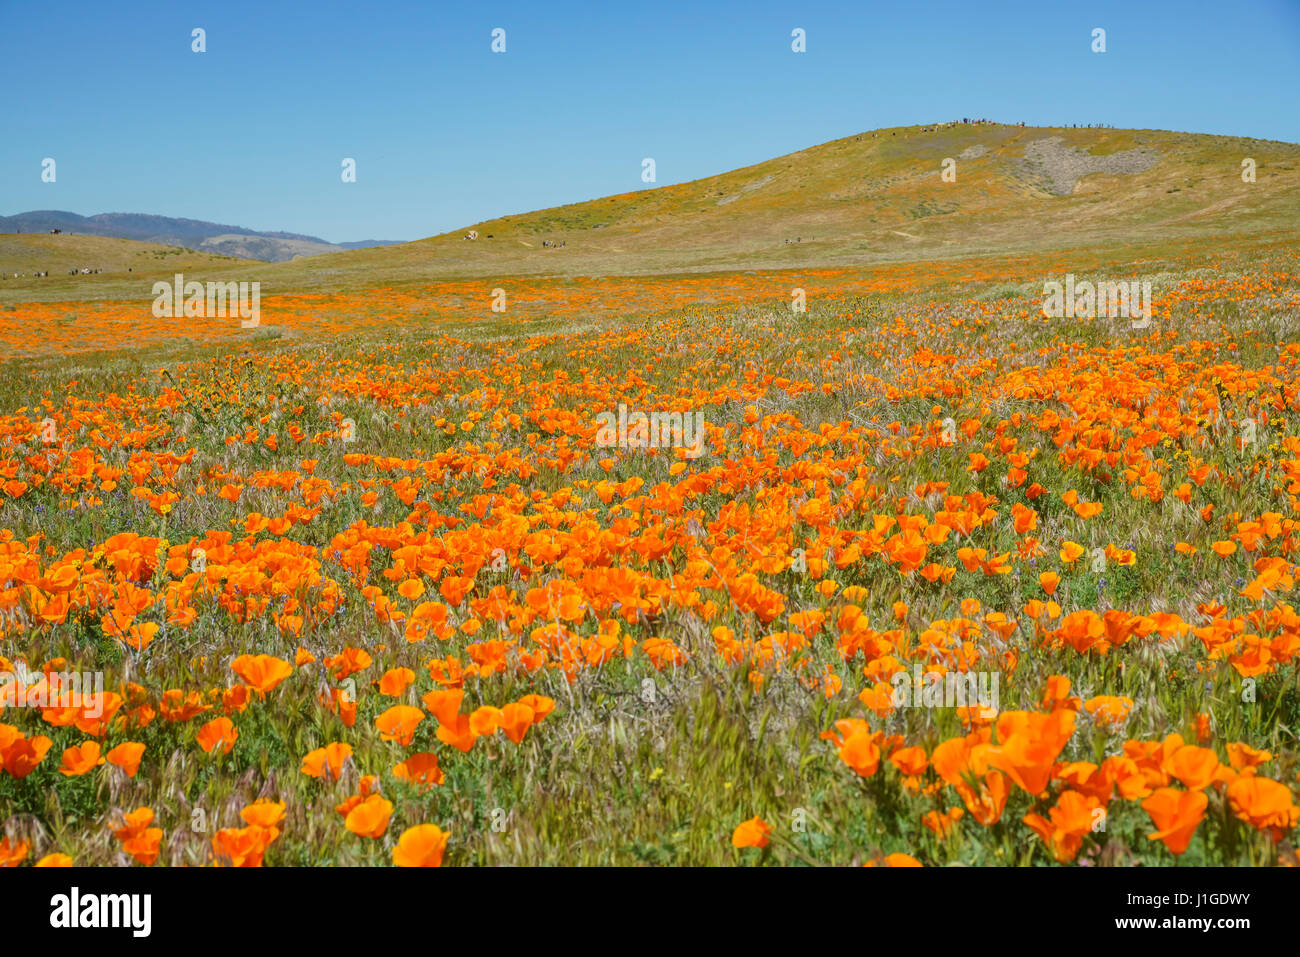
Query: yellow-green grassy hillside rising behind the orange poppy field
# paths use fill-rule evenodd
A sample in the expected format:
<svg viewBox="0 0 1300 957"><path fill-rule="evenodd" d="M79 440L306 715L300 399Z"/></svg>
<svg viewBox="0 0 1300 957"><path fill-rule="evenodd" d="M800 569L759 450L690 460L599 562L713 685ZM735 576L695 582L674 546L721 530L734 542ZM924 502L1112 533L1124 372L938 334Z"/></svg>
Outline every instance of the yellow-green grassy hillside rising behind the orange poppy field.
<svg viewBox="0 0 1300 957"><path fill-rule="evenodd" d="M196 278L260 280L273 294L441 278L846 267L1300 231L1300 146L1158 130L923 129L863 133L706 179L476 224L477 242L458 229L290 263L186 267ZM1158 160L1143 173L1086 177L1057 196L1022 165L1026 146L1049 137L1096 156L1147 148ZM988 152L959 159L972 148ZM1256 183L1242 182L1245 156L1258 164ZM945 157L958 157L956 183L940 179ZM543 248L543 239L566 247ZM0 247L0 270L8 259ZM4 302L143 295L136 281L107 273L61 286L0 285Z"/></svg>

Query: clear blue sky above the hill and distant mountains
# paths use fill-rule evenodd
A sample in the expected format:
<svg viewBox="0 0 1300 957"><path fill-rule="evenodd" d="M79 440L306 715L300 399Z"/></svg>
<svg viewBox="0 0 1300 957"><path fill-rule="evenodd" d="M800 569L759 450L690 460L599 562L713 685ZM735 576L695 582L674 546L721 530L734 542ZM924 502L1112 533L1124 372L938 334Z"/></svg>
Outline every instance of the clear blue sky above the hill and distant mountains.
<svg viewBox="0 0 1300 957"><path fill-rule="evenodd" d="M1300 0L0 0L0 213L416 239L962 116L1295 143L1297 90Z"/></svg>

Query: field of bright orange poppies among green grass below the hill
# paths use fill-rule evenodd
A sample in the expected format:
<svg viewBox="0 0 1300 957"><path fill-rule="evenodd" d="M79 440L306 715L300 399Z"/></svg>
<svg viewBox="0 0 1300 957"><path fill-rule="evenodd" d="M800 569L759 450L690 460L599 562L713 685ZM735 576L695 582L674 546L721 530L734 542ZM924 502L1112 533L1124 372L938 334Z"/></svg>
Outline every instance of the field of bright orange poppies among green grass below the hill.
<svg viewBox="0 0 1300 957"><path fill-rule="evenodd" d="M4 307L0 865L1296 865L1300 255L1091 268Z"/></svg>

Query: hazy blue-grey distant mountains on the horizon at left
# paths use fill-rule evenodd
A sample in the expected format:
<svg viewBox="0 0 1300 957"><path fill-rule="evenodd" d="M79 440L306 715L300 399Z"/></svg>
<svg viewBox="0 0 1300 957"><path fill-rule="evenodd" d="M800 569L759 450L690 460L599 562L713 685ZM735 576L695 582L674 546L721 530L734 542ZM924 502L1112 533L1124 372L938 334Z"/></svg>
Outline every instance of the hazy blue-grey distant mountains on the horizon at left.
<svg viewBox="0 0 1300 957"><path fill-rule="evenodd" d="M178 220L170 216L148 216L146 213L78 216L61 209L35 209L14 216L0 216L0 233L48 233L52 229L72 234L140 239L269 263L282 263L299 256L318 256L322 252L396 246L402 242L399 239L361 239L352 243L330 243L315 235L260 233L256 229L244 229L243 226L224 226L203 220Z"/></svg>

